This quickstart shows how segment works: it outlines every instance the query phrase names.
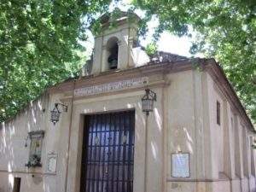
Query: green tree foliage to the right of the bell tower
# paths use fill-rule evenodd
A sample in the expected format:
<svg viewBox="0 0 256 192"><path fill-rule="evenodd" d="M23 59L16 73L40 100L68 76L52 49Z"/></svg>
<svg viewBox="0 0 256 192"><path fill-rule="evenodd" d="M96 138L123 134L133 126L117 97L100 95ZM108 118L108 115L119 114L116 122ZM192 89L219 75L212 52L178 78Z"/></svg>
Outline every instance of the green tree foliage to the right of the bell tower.
<svg viewBox="0 0 256 192"><path fill-rule="evenodd" d="M216 58L235 87L247 112L256 120L256 2L253 0L134 0L135 7L156 16L160 25L154 38L164 30L177 36L198 37L191 52ZM145 22L142 22L145 24ZM147 30L142 25L143 32ZM142 32L142 33L143 33Z"/></svg>

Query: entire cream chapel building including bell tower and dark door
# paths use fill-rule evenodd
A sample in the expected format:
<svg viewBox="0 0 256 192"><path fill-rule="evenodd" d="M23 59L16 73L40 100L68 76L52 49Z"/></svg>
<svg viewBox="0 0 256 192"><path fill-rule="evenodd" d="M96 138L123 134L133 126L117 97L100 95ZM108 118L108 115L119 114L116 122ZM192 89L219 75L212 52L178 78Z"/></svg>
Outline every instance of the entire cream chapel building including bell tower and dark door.
<svg viewBox="0 0 256 192"><path fill-rule="evenodd" d="M112 19L80 77L1 124L0 192L255 192L255 129L218 63L147 55L137 15Z"/></svg>

